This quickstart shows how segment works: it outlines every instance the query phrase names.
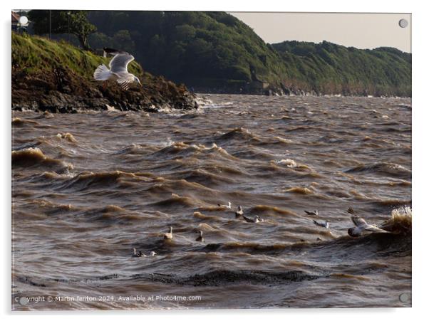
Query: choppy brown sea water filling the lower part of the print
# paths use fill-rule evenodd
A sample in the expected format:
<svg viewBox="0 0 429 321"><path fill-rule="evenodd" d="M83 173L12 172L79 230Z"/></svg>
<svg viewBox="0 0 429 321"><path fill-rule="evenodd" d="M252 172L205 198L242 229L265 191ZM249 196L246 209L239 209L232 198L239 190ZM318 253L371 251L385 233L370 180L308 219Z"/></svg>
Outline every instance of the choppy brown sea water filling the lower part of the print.
<svg viewBox="0 0 429 321"><path fill-rule="evenodd" d="M13 112L13 310L410 306L410 236L347 234L411 205L410 99L207 98Z"/></svg>

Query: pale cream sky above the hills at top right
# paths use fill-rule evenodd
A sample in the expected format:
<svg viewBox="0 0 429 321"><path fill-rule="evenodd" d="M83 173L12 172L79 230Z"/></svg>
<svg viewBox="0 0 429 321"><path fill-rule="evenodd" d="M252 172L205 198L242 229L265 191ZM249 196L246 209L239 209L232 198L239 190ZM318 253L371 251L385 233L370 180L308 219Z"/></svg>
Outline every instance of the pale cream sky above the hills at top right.
<svg viewBox="0 0 429 321"><path fill-rule="evenodd" d="M315 14L229 12L267 43L285 40L329 41L356 48L394 47L411 52L410 14ZM408 26L400 28L400 19Z"/></svg>

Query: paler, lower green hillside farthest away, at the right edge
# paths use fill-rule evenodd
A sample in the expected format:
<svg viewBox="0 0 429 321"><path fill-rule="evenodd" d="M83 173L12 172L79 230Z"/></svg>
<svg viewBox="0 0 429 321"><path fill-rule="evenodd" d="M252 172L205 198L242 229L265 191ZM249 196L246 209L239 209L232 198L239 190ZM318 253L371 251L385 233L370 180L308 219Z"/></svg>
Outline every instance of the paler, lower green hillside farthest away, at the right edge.
<svg viewBox="0 0 429 321"><path fill-rule="evenodd" d="M410 53L346 48L327 41L284 41L272 46L286 65L286 85L316 93L411 95Z"/></svg>

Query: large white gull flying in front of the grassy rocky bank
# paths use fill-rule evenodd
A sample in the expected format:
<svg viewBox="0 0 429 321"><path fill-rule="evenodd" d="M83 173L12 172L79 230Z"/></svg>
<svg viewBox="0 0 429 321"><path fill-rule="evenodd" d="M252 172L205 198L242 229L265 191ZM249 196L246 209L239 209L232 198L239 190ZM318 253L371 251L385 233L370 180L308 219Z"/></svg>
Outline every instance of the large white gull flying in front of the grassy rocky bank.
<svg viewBox="0 0 429 321"><path fill-rule="evenodd" d="M134 60L133 56L125 51L117 51L111 48L104 48L104 52L113 55L109 63L110 69L104 64L99 65L94 71L95 80L115 79L123 90L130 88L130 85L134 82L141 85L140 80L135 75L128 73L128 63Z"/></svg>

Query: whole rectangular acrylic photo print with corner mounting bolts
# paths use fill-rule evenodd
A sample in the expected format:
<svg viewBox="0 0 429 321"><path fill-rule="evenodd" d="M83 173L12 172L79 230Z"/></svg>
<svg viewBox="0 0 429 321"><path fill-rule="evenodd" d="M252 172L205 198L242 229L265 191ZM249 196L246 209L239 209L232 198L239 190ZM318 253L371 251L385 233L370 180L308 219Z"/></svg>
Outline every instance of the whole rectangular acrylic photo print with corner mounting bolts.
<svg viewBox="0 0 429 321"><path fill-rule="evenodd" d="M410 14L11 19L13 310L411 306Z"/></svg>

